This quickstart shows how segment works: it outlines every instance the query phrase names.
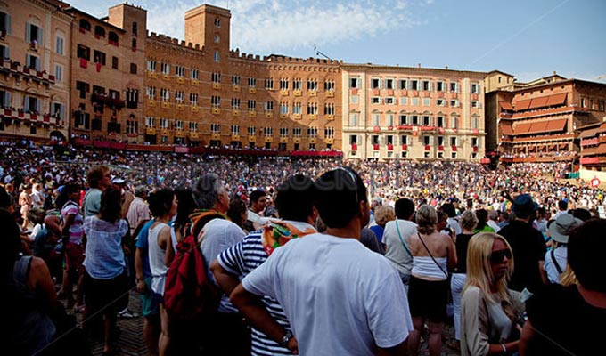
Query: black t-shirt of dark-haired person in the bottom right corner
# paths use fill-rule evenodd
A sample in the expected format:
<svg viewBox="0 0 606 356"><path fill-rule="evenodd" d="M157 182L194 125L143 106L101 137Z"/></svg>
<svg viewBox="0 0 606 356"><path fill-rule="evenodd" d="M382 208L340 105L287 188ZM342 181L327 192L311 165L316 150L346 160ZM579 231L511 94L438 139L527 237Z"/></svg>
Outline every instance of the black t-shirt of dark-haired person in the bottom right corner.
<svg viewBox="0 0 606 356"><path fill-rule="evenodd" d="M585 302L577 286L541 288L526 303L535 338L528 355L598 355L604 353L606 309Z"/></svg>

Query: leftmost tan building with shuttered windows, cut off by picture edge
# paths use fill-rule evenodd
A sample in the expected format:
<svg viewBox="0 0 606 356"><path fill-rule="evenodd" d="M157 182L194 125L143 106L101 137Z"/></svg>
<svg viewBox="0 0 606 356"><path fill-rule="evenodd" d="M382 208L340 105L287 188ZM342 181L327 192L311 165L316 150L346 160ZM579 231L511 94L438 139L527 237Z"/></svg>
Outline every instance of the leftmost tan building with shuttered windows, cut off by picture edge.
<svg viewBox="0 0 606 356"><path fill-rule="evenodd" d="M54 1L0 1L0 136L67 138L71 21Z"/></svg>

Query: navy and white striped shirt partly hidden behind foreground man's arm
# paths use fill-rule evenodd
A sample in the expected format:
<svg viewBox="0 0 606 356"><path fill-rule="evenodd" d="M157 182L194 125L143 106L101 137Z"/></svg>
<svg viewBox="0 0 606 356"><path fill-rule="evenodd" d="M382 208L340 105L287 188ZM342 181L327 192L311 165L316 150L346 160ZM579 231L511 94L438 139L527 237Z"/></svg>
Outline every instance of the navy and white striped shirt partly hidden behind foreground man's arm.
<svg viewBox="0 0 606 356"><path fill-rule="evenodd" d="M297 224L300 225L301 223ZM242 241L219 254L217 256L217 262L221 264L225 271L229 271L230 273L243 278L267 259L267 254L263 249L262 234L262 230L250 232ZM262 300L267 312L269 312L274 320L284 328L291 330L291 326L283 312L282 306L269 296L264 296ZM250 354L253 356L292 355L292 352L289 349L282 347L256 328L251 328L251 335L252 346Z"/></svg>

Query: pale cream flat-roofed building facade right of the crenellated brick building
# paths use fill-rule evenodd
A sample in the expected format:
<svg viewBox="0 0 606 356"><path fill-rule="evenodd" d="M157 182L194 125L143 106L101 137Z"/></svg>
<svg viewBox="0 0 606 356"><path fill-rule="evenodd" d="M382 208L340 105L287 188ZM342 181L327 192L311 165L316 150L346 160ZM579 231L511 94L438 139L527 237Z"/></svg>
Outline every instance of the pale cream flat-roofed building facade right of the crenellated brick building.
<svg viewBox="0 0 606 356"><path fill-rule="evenodd" d="M484 157L487 73L342 66L344 158Z"/></svg>

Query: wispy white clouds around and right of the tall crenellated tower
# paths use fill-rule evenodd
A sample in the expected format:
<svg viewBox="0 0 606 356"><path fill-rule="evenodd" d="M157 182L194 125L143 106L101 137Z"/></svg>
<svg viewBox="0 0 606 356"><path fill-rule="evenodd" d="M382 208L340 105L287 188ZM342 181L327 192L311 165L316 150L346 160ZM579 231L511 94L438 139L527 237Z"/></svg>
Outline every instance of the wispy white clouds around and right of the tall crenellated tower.
<svg viewBox="0 0 606 356"><path fill-rule="evenodd" d="M354 43L365 36L378 36L419 25L410 8L433 0L217 0L210 1L232 12L231 47L246 53L289 53L313 45ZM184 39L184 14L200 0L139 1L147 10L150 32ZM107 15L113 0L71 1L74 7L94 16Z"/></svg>

